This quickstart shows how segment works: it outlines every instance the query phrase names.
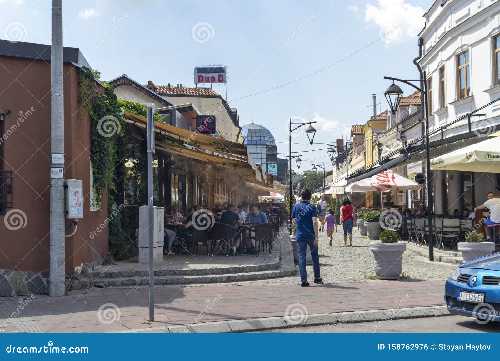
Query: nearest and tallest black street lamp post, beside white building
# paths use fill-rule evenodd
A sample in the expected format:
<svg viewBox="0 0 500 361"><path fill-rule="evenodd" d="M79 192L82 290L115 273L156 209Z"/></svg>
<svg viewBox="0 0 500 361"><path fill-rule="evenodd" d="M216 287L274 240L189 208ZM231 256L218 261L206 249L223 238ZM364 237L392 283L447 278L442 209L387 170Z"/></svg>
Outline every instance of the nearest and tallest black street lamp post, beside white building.
<svg viewBox="0 0 500 361"><path fill-rule="evenodd" d="M428 222L429 222L429 261L433 262L434 261L434 245L433 245L433 227L432 227L432 208L434 207L434 200L432 197L432 185L430 182L430 146L429 146L429 110L428 110L428 99L427 99L427 81L425 80L425 71L423 72L422 78L421 79L409 79L409 80L404 80L404 79L398 79L398 78L392 78L389 76L384 76L384 79L389 79L392 80L392 84L385 90L383 95L387 99L387 102L389 103L390 110L394 114L397 110L397 106L399 105L399 100L401 100L401 96L403 95L403 91L401 88L394 83L394 81L400 81L402 83L408 84L415 88L416 90L423 92L423 98L424 98L424 110L425 110L425 149L426 149L426 161L427 161L427 167L426 167L426 173L427 173L427 215L428 215ZM415 84L412 83L414 82L419 82L420 84L423 83L423 90L416 86Z"/></svg>

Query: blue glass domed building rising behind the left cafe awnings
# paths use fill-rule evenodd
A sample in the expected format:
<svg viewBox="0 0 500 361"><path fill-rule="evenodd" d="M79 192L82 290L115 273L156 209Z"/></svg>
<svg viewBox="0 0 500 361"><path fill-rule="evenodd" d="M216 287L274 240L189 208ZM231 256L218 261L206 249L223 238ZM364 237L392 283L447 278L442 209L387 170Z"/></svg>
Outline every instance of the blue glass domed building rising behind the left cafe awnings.
<svg viewBox="0 0 500 361"><path fill-rule="evenodd" d="M276 142L271 132L262 125L252 123L241 127L241 135L255 164L260 164L264 172L276 175Z"/></svg>

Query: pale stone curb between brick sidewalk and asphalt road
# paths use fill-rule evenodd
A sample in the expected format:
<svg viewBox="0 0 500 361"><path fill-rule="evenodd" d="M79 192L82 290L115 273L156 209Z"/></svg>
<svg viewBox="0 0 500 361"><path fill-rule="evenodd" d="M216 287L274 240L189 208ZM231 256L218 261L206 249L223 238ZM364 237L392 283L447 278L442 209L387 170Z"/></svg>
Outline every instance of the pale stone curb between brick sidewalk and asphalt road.
<svg viewBox="0 0 500 361"><path fill-rule="evenodd" d="M360 322L376 322L388 320L400 320L422 317L447 316L446 306L430 306L430 307L410 307L388 310L372 310L372 311L353 311L353 312L337 312L329 314L312 314L307 315L300 320L294 322L289 316L283 317L266 317L258 319L242 319L231 321L204 322L193 324L188 327L189 333L236 333L236 332L255 332L263 330L286 329L293 327L321 326L334 324L348 324ZM136 329L118 331L118 333L186 333L185 325L162 326L150 329Z"/></svg>

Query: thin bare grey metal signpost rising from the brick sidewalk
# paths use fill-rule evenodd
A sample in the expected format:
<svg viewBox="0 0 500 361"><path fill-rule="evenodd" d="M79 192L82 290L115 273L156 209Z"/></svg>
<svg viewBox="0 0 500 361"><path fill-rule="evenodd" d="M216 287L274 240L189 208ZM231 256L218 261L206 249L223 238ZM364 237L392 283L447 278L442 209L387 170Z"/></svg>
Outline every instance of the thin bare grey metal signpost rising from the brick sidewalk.
<svg viewBox="0 0 500 361"><path fill-rule="evenodd" d="M154 207L153 207L154 104L147 104L147 202L149 236L149 321L154 321Z"/></svg>

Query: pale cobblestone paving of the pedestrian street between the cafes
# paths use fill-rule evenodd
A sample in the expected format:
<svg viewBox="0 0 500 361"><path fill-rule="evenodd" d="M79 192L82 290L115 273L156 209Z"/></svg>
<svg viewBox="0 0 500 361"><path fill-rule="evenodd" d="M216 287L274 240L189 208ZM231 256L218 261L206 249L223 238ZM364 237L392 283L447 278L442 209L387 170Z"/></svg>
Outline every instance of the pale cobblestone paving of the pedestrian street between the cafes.
<svg viewBox="0 0 500 361"><path fill-rule="evenodd" d="M333 232L333 246L328 245L326 232L319 232L319 262L321 277L325 282L383 282L370 280L374 276L373 254L369 250L371 240L361 236L357 228L353 229L353 247L343 245L341 227ZM349 241L347 240L347 244ZM402 257L402 272L409 279L417 280L444 280L458 265L443 262L429 262L427 258L412 252L404 252ZM297 266L298 267L298 266ZM312 277L312 265L307 266L307 275ZM237 282L245 285L288 285L300 282L300 276L286 278Z"/></svg>

